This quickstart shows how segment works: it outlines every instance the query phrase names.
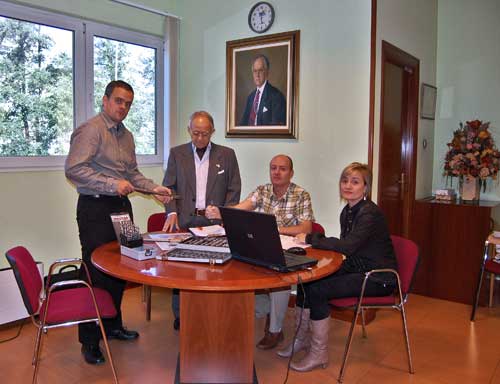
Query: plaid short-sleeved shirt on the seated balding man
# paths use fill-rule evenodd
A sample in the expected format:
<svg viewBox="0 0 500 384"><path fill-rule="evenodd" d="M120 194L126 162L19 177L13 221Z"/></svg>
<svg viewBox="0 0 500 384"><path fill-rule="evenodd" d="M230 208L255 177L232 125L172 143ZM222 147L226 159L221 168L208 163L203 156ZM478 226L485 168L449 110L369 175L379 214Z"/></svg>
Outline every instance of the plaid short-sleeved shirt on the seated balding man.
<svg viewBox="0 0 500 384"><path fill-rule="evenodd" d="M276 216L280 227L298 225L307 220L314 221L311 196L304 188L294 183L290 183L281 199L274 195L272 184L258 186L248 195L248 199L252 201L255 211Z"/></svg>

